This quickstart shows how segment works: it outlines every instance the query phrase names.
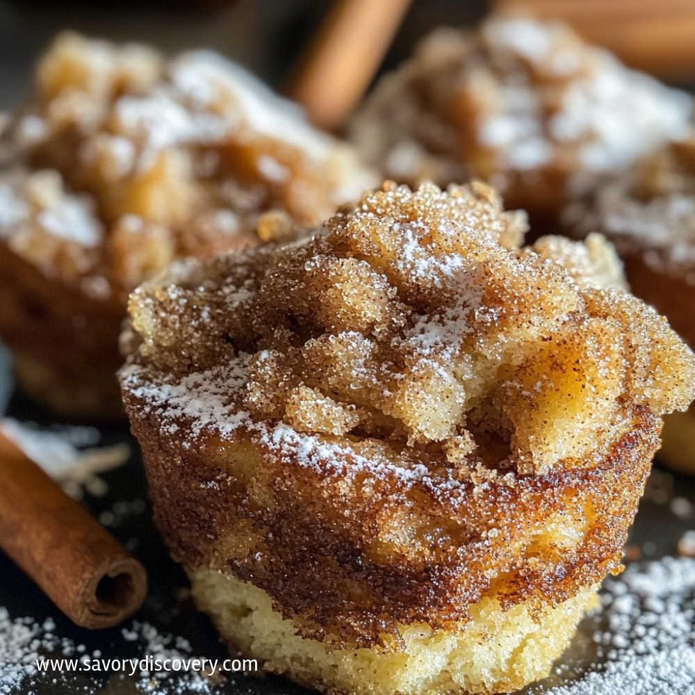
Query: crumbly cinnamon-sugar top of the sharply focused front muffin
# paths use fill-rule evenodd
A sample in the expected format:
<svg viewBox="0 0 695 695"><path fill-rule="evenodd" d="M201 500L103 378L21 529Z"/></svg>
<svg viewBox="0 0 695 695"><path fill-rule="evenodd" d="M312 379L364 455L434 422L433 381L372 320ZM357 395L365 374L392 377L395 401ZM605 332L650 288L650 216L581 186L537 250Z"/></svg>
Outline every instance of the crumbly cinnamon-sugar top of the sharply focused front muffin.
<svg viewBox="0 0 695 695"><path fill-rule="evenodd" d="M190 445L243 427L319 459L395 449L407 475L590 468L635 408L687 407L695 357L602 237L522 247L526 227L482 183L385 183L308 240L138 288L122 384Z"/></svg>

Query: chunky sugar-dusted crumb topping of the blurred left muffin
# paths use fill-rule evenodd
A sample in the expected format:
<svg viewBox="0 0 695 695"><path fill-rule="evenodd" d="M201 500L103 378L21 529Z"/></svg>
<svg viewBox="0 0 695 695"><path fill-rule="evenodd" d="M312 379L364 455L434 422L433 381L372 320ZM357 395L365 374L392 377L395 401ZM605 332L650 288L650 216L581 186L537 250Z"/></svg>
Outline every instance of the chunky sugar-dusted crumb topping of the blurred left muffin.
<svg viewBox="0 0 695 695"><path fill-rule="evenodd" d="M373 184L352 149L209 51L60 35L3 129L0 239L67 281L131 289L179 256L318 224ZM267 237L267 234L266 234Z"/></svg>

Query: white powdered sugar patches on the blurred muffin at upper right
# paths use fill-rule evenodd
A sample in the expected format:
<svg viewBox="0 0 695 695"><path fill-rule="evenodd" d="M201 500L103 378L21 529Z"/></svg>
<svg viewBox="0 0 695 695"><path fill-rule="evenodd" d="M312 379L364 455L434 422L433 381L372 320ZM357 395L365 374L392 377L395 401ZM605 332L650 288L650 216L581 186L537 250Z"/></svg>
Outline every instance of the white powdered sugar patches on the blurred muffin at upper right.
<svg viewBox="0 0 695 695"><path fill-rule="evenodd" d="M548 65L549 54L564 45L564 31L559 24L520 18L491 19L483 28L491 50L516 54L537 71ZM512 90L500 88L498 92L501 114L482 122L482 142L504 147L510 167L524 170L547 163L555 150L553 141L557 141L578 143L585 170L621 170L664 140L687 136L692 99L686 92L628 70L607 51L578 43L562 50L562 73L569 77L567 68L573 64L575 74L564 91L555 95L559 96L559 108L551 111L547 133L542 122L545 109L539 103L543 92L537 92L532 81L525 87L519 85L523 68L515 73L516 82L509 75ZM569 61L572 53L575 60ZM524 92L522 99L518 98L519 91ZM496 121L498 125L492 129ZM500 133L502 122L508 133L504 142L491 138L493 133Z"/></svg>

